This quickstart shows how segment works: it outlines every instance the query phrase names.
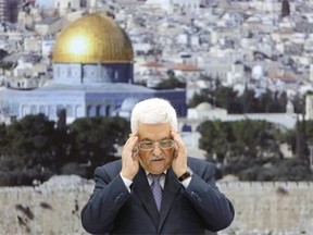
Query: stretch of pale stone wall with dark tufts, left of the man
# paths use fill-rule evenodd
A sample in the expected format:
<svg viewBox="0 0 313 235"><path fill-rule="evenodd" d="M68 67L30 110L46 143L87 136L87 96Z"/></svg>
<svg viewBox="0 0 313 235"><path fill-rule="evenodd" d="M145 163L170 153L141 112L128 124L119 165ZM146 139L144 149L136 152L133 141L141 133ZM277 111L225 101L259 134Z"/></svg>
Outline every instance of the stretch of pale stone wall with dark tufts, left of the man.
<svg viewBox="0 0 313 235"><path fill-rule="evenodd" d="M38 187L0 188L0 234L87 234L79 213L93 184L71 177L70 183L54 177Z"/></svg>

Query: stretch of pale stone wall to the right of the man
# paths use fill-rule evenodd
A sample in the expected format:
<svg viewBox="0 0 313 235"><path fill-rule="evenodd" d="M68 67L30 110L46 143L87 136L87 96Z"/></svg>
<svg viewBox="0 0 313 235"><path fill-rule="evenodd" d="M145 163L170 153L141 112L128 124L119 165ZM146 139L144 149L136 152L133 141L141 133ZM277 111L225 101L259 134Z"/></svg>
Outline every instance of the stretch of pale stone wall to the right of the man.
<svg viewBox="0 0 313 235"><path fill-rule="evenodd" d="M221 234L312 234L313 183L226 182L217 185L236 210L234 223Z"/></svg>

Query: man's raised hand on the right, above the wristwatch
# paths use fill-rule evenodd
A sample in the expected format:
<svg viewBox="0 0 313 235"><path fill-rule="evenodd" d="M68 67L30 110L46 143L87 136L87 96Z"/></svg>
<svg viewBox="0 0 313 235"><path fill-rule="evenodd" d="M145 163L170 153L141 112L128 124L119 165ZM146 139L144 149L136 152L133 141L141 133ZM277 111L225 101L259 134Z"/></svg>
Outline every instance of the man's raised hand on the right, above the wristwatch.
<svg viewBox="0 0 313 235"><path fill-rule="evenodd" d="M177 177L181 176L187 171L187 149L179 134L175 131L171 132L175 141L175 153L173 157L172 169Z"/></svg>

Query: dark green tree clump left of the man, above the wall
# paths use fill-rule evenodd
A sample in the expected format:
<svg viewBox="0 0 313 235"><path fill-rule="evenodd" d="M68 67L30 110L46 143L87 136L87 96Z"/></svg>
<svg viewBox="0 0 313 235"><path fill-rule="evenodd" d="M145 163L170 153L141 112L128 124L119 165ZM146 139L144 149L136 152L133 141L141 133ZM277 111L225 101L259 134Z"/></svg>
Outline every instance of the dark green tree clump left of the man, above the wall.
<svg viewBox="0 0 313 235"><path fill-rule="evenodd" d="M38 114L0 125L0 186L32 185L64 172L92 177L96 166L116 159L116 147L129 133L129 123L121 118L61 124ZM89 171L82 166L86 162Z"/></svg>

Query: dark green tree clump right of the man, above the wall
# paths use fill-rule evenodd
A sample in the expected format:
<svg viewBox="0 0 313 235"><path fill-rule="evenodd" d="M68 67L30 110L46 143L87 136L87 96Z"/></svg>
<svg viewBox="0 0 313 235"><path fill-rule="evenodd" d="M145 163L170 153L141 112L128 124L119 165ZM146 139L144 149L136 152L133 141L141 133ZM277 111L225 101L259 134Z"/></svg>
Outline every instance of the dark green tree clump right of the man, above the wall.
<svg viewBox="0 0 313 235"><path fill-rule="evenodd" d="M208 152L208 160L222 164L223 174L238 175L241 181L312 181L309 152L297 152L306 146L299 132L300 137L313 139L313 122L305 123L308 128L303 122L297 126L286 131L265 121L205 121L199 127L199 147ZM283 159L281 143L292 147L295 158Z"/></svg>

